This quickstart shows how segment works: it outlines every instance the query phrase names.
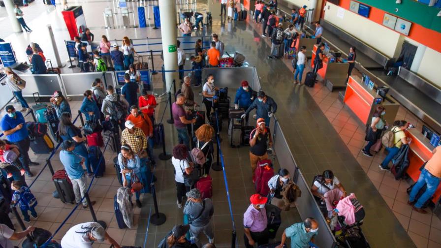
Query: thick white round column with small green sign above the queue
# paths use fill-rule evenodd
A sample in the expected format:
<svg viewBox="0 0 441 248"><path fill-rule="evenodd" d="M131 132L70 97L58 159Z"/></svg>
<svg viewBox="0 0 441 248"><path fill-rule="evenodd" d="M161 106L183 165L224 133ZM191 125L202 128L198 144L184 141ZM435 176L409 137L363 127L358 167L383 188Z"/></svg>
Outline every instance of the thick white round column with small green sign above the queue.
<svg viewBox="0 0 441 248"><path fill-rule="evenodd" d="M178 53L176 51L176 1L160 0L159 14L161 20L162 50L164 51L164 69L177 70ZM171 86L173 79L175 79L176 82L179 82L179 74L177 72L165 73L165 85L167 87L166 91L170 91L172 88ZM171 89L171 91L173 91L173 89Z"/></svg>

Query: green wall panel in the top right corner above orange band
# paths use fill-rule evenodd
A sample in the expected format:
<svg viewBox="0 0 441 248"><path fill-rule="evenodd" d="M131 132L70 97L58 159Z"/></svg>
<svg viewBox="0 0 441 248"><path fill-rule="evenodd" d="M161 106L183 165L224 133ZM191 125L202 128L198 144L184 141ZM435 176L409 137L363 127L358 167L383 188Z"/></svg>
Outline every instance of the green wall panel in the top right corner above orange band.
<svg viewBox="0 0 441 248"><path fill-rule="evenodd" d="M417 23L425 28L441 32L441 17L437 17L439 8L429 7L414 0L402 0L396 4L395 0L357 0L367 5L382 9L392 15ZM398 8L398 12L395 9Z"/></svg>

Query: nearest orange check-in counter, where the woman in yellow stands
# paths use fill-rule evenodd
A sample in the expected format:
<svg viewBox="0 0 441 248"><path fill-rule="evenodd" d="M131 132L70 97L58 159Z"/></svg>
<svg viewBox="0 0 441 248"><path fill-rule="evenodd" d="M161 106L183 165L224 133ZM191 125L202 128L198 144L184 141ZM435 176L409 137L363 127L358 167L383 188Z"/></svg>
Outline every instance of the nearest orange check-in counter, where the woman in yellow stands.
<svg viewBox="0 0 441 248"><path fill-rule="evenodd" d="M418 181L419 174L421 171L421 165L423 165L427 160L432 157L432 151L435 149L432 144L430 144L429 139L427 139L419 129L410 128L406 130L406 135L412 138L412 141L409 144L410 153L409 153L409 167L407 170L407 174L412 179L413 182ZM435 194L433 195L432 201L437 205L440 201L441 196L441 184L438 186Z"/></svg>

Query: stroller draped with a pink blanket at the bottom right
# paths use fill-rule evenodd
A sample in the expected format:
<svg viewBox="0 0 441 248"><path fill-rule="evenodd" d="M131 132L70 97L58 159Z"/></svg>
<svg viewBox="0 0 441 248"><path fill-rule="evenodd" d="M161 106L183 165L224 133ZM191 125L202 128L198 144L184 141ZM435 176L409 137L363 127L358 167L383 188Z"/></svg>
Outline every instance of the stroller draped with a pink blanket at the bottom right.
<svg viewBox="0 0 441 248"><path fill-rule="evenodd" d="M339 212L339 209L342 210L347 207L347 203L350 203L352 206L349 207L352 207L354 210L352 217L345 216ZM364 208L361 206L355 195L352 193L339 201L336 210L338 213L337 222L340 225L340 230L336 230L334 233L337 242L339 242L342 247L346 248L370 248L371 246L361 230L363 218L365 217ZM349 219L349 221L347 219ZM350 224L347 222L350 222Z"/></svg>

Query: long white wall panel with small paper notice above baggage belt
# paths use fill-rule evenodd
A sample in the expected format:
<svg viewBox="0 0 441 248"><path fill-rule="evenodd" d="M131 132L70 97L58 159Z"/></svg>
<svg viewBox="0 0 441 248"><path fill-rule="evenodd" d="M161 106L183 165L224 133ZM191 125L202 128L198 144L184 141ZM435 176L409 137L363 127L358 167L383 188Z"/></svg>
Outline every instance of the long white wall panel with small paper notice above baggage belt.
<svg viewBox="0 0 441 248"><path fill-rule="evenodd" d="M339 8L339 6L327 2L324 19L369 44L387 57L392 58L394 56L397 44L400 41L400 34L398 32L344 8L341 8L343 18L338 17Z"/></svg>

